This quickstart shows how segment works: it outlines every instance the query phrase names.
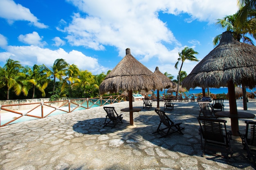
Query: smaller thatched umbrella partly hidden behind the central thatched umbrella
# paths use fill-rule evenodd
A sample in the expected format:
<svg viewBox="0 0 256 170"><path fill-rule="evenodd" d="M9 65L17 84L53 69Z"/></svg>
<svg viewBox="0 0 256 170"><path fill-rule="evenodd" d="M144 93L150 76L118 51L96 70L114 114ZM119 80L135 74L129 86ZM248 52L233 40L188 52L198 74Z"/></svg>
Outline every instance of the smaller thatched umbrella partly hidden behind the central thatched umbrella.
<svg viewBox="0 0 256 170"><path fill-rule="evenodd" d="M161 82L163 84L163 88L169 88L169 87L176 86L175 83L173 81L171 81L171 79L169 79L168 77L166 77L166 75L164 75L163 73L161 73L159 71L158 67L155 68L154 75L161 80ZM157 108L159 108L159 89L157 89Z"/></svg>

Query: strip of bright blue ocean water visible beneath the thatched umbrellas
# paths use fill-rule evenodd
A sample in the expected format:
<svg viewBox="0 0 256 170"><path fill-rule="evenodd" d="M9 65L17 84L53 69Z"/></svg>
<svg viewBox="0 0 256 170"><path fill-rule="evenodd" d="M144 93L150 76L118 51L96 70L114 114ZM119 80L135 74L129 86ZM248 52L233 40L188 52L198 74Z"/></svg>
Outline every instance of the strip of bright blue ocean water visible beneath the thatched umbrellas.
<svg viewBox="0 0 256 170"><path fill-rule="evenodd" d="M210 93L213 94L223 94L223 93L228 93L228 88L227 87L222 87L222 88L209 88ZM246 88L246 91L251 93L251 92L255 92L256 88L253 89L249 89ZM155 94L157 94L157 91L154 92ZM165 90L165 93L167 93L167 89ZM195 88L195 89L189 89L188 92L185 92L185 94L198 94L198 93L202 93L202 88ZM207 88L205 89L205 93L207 93ZM159 94L164 94L164 91L159 91ZM173 93L175 94L175 92Z"/></svg>

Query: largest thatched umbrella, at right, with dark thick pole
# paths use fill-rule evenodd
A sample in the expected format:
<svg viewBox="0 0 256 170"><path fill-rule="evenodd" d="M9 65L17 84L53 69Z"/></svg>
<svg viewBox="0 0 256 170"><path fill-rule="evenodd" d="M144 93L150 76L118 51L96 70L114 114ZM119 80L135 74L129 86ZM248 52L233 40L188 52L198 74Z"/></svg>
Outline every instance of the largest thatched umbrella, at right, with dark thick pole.
<svg viewBox="0 0 256 170"><path fill-rule="evenodd" d="M205 56L182 81L182 86L228 87L230 114L237 116L235 84L256 85L256 46L234 40L230 31L222 33L220 44ZM231 119L233 135L238 136L238 119Z"/></svg>

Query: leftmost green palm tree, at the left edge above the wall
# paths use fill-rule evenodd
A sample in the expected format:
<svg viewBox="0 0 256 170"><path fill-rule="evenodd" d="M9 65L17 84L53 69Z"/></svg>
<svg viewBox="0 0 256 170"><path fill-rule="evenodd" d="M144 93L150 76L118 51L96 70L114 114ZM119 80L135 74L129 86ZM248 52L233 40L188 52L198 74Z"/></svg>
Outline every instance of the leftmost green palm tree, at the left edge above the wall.
<svg viewBox="0 0 256 170"><path fill-rule="evenodd" d="M22 90L22 86L18 82L18 73L22 67L19 63L20 62L11 60L9 58L6 64L3 67L0 67L0 88L7 86L7 100L9 100L11 88L14 88L16 95L20 95Z"/></svg>

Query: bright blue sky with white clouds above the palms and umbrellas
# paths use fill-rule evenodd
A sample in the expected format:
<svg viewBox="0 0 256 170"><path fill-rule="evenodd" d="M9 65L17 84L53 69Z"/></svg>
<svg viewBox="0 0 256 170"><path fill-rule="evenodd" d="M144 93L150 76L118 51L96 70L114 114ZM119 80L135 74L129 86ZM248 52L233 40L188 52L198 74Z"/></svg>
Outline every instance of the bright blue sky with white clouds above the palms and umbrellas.
<svg viewBox="0 0 256 170"><path fill-rule="evenodd" d="M0 0L0 66L63 58L81 70L107 73L125 49L152 72L174 68L185 46L202 60L214 46L216 19L236 13L236 0ZM185 62L188 74L197 62Z"/></svg>

